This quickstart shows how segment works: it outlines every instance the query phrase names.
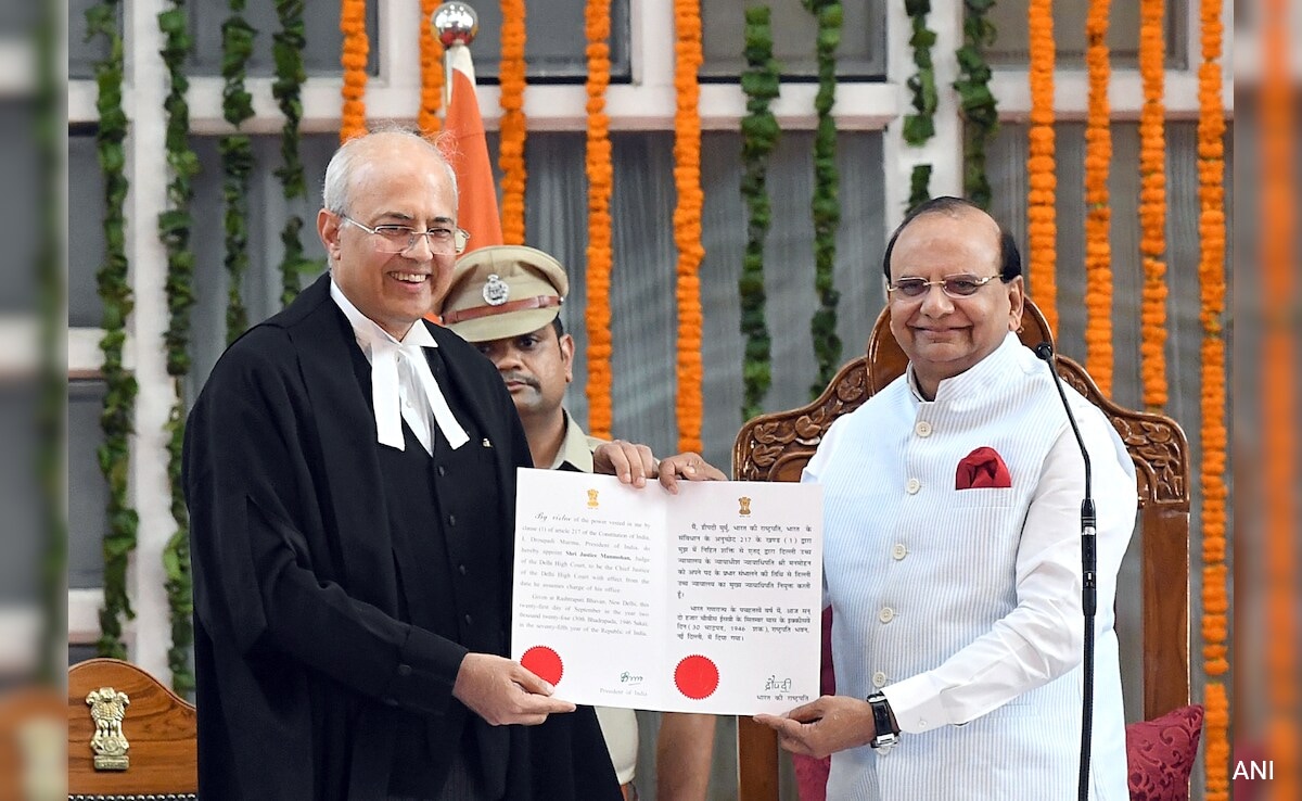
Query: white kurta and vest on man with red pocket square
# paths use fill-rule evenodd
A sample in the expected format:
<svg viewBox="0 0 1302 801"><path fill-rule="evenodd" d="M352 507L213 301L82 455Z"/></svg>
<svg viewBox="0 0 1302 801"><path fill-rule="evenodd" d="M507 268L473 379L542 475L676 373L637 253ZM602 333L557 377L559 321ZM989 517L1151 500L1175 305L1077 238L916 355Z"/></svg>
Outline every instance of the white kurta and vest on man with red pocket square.
<svg viewBox="0 0 1302 801"><path fill-rule="evenodd" d="M1125 801L1113 599L1134 468L1103 414L1068 397L1099 516L1091 798ZM983 445L1012 487L956 490ZM884 692L904 732L885 755L835 754L828 798L1075 798L1085 470L1048 367L1010 333L935 401L901 378L832 426L805 481L823 485L837 692Z"/></svg>

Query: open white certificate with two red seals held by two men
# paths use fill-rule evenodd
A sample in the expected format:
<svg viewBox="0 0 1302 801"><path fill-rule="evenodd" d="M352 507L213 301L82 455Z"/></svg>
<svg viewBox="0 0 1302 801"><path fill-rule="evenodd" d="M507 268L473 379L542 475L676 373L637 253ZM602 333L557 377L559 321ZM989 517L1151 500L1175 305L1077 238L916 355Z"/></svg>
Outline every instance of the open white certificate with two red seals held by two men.
<svg viewBox="0 0 1302 801"><path fill-rule="evenodd" d="M717 715L818 698L818 485L518 478L512 656L557 697Z"/></svg>

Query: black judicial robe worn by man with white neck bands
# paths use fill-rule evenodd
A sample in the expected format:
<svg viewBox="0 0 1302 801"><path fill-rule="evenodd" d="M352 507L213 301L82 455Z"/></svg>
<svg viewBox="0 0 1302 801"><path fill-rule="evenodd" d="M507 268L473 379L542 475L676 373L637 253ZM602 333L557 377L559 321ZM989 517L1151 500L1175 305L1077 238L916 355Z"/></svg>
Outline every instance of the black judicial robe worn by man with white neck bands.
<svg viewBox="0 0 1302 801"><path fill-rule="evenodd" d="M458 630L441 633L400 619L370 365L322 276L227 349L186 427L203 798L384 798L400 711L428 716L435 733L448 722L445 748L471 719L506 798L620 798L591 709L490 727L452 697L467 651L509 655L516 468L530 453L492 363L430 330L469 401L457 412L492 443L505 542L500 582L453 576L474 537L449 539L448 561L422 569L452 585L458 612L503 619L458 613ZM483 595L492 586L500 603Z"/></svg>

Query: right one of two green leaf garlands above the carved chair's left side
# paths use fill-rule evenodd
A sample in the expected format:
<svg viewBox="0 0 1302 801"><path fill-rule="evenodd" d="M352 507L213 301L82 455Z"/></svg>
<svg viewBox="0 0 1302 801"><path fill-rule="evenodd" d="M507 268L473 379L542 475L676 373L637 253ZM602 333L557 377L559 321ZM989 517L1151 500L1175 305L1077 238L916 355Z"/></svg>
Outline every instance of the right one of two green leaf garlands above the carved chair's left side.
<svg viewBox="0 0 1302 801"><path fill-rule="evenodd" d="M841 204L837 199L836 121L832 104L836 100L836 48L841 44L841 4L832 0L801 0L818 18L818 129L814 134L814 288L819 296L819 309L810 322L814 335L814 358L818 378L810 386L810 399L816 399L836 375L841 361L841 337L836 335L836 306L841 293L836 290L836 229L841 224Z"/></svg>

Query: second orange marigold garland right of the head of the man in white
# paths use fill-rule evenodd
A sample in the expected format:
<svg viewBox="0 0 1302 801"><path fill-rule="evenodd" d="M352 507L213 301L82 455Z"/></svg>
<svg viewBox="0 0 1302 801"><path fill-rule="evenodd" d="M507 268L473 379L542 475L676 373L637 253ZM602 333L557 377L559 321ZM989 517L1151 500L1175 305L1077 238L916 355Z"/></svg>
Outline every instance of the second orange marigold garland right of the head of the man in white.
<svg viewBox="0 0 1302 801"><path fill-rule="evenodd" d="M1112 395L1112 109L1108 104L1108 12L1112 0L1091 0L1085 20L1090 109L1085 122L1085 367Z"/></svg>

